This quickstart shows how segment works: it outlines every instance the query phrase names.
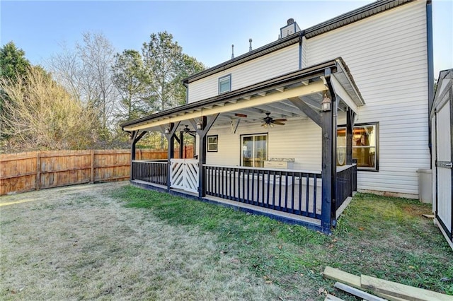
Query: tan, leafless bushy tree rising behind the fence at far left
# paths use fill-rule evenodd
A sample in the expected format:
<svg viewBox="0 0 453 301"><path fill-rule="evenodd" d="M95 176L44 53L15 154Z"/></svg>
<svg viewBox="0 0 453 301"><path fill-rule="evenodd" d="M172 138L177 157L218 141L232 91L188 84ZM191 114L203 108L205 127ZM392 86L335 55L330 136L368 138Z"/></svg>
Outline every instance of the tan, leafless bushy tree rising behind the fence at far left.
<svg viewBox="0 0 453 301"><path fill-rule="evenodd" d="M1 78L0 89L11 99L0 113L8 135L3 151L91 147L96 114L42 69L30 67L12 84Z"/></svg>

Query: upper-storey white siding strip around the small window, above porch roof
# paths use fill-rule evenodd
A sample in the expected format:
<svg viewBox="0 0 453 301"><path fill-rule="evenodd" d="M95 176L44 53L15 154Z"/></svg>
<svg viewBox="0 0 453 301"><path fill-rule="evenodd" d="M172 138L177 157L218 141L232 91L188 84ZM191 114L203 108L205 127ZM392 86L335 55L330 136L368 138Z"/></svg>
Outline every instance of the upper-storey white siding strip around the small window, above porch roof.
<svg viewBox="0 0 453 301"><path fill-rule="evenodd" d="M219 94L219 77L231 73L231 90L253 85L299 69L299 44L189 83L189 101L195 102Z"/></svg>

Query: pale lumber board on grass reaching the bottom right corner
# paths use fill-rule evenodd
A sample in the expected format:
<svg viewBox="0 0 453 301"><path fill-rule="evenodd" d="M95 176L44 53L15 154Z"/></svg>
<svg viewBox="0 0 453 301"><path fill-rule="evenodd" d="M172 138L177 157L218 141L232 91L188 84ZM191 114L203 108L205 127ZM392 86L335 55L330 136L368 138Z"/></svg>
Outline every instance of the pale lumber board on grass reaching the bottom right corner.
<svg viewBox="0 0 453 301"><path fill-rule="evenodd" d="M360 276L362 288L372 290L373 292L393 295L411 301L453 301L453 296L444 295L423 288L415 288L410 285L386 281L384 279L374 278L367 275Z"/></svg>

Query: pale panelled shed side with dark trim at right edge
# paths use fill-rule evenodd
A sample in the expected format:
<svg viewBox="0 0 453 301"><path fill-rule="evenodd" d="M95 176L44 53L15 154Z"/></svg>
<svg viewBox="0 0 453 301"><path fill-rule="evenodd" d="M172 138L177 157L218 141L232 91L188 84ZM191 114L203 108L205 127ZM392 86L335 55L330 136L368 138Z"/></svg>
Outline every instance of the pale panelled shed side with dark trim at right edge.
<svg viewBox="0 0 453 301"><path fill-rule="evenodd" d="M452 124L453 124L453 69L441 71L435 99L432 105L432 167L433 211L436 223L453 248L452 211Z"/></svg>

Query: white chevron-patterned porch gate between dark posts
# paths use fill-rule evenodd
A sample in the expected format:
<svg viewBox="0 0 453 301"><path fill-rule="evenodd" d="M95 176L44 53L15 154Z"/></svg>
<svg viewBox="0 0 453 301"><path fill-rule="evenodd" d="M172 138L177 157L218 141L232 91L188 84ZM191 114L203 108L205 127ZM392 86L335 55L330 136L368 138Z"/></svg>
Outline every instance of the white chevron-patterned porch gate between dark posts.
<svg viewBox="0 0 453 301"><path fill-rule="evenodd" d="M171 159L170 187L198 192L198 160Z"/></svg>

